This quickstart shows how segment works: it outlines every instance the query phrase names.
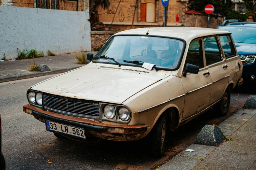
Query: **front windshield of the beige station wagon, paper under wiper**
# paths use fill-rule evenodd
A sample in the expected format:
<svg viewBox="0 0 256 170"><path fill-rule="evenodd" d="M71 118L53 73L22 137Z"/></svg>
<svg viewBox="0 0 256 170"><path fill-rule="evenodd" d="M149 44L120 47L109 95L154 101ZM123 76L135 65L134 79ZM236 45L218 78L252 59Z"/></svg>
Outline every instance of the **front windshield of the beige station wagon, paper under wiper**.
<svg viewBox="0 0 256 170"><path fill-rule="evenodd" d="M114 36L95 57L108 56L124 65L137 66L127 61L142 61L155 64L159 69L177 69L182 59L184 42L172 38L153 36ZM98 58L94 61L114 63L110 59Z"/></svg>

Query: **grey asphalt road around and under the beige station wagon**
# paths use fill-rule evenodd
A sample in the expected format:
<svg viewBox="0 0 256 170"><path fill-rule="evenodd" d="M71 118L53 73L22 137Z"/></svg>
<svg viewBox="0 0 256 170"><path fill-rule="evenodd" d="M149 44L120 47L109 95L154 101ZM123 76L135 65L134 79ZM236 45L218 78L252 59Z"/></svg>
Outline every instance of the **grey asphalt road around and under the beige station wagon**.
<svg viewBox="0 0 256 170"><path fill-rule="evenodd" d="M160 159L147 155L146 141L89 141L57 139L45 130L45 124L23 112L27 104L27 89L51 76L0 83L0 113L2 117L2 151L7 169L156 169L181 150L191 145L205 124L219 124L240 109L250 88L231 93L228 115L215 117L209 110L171 132L167 149ZM47 163L50 162L50 163Z"/></svg>

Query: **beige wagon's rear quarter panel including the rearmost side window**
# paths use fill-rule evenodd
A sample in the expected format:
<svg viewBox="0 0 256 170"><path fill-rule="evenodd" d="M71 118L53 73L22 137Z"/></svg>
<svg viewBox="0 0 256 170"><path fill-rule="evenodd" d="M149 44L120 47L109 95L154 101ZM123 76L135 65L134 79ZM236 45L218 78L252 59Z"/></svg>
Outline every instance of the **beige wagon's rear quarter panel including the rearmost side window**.
<svg viewBox="0 0 256 170"><path fill-rule="evenodd" d="M226 70L228 72L229 80L234 80L236 85L238 78L242 75L243 65L240 57L236 52L234 42L231 35L219 35L221 47L226 58Z"/></svg>

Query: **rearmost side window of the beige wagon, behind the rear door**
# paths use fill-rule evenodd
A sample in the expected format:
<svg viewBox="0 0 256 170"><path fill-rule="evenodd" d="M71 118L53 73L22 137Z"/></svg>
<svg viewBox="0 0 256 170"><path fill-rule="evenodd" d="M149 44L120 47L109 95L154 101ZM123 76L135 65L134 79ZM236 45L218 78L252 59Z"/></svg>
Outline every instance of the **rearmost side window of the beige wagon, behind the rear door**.
<svg viewBox="0 0 256 170"><path fill-rule="evenodd" d="M225 57L233 57L236 55L234 44L231 40L230 35L220 35L220 44L222 46L222 49L224 51Z"/></svg>

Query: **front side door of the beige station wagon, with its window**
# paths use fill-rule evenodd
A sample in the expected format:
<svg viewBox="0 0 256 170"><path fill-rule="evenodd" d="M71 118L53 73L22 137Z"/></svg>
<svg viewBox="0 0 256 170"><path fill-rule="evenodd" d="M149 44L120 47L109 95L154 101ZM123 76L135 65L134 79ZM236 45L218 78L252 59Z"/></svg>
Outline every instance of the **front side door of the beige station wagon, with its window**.
<svg viewBox="0 0 256 170"><path fill-rule="evenodd" d="M186 64L193 64L200 69L198 74L187 73L186 77L181 77L181 82L185 91L183 119L199 113L209 105L212 79L211 75L207 74L208 70L205 67L202 41L201 38L192 41L186 56L184 68L186 67Z"/></svg>

